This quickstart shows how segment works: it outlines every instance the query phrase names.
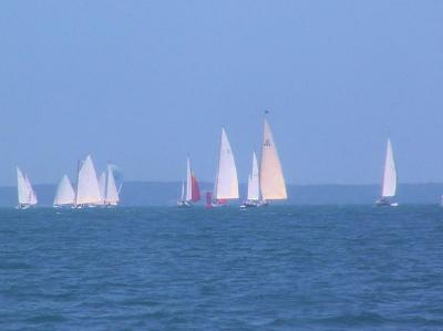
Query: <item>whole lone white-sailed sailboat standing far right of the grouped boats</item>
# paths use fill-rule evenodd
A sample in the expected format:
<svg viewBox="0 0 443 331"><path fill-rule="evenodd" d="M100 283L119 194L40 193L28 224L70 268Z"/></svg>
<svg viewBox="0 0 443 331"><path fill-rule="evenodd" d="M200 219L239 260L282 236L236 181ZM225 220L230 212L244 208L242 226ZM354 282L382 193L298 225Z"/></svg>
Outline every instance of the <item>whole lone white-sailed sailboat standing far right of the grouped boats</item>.
<svg viewBox="0 0 443 331"><path fill-rule="evenodd" d="M387 144L387 156L384 159L384 169L383 169L383 180L381 185L381 196L375 201L377 206L399 206L398 203L391 201L391 198L395 197L396 194L396 168L394 154L392 152L391 141L388 139Z"/></svg>

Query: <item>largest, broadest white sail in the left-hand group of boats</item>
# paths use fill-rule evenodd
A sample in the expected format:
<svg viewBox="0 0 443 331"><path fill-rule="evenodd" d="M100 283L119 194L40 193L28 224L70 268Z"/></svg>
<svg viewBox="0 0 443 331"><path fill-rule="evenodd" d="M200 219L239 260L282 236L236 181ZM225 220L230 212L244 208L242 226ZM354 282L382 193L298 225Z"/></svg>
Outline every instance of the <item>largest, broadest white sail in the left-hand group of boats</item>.
<svg viewBox="0 0 443 331"><path fill-rule="evenodd" d="M103 204L100 193L99 180L91 155L81 165L76 184L76 205L101 205Z"/></svg>

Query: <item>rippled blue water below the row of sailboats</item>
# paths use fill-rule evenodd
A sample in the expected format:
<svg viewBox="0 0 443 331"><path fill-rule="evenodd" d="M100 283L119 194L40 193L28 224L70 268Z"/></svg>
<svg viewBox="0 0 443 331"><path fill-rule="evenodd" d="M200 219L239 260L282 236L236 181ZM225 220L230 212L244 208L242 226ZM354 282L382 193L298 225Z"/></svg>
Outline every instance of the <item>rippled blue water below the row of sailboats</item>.
<svg viewBox="0 0 443 331"><path fill-rule="evenodd" d="M0 330L443 330L432 206L0 210Z"/></svg>

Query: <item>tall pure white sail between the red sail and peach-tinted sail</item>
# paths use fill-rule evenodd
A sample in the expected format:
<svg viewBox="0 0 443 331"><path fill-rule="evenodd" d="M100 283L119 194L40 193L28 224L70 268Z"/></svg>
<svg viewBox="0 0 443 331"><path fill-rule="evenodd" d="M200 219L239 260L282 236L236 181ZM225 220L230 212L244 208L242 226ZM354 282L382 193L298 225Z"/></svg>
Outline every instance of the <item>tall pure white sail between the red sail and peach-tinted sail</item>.
<svg viewBox="0 0 443 331"><path fill-rule="evenodd" d="M215 198L216 199L238 198L237 168L225 128L222 128L218 170L215 184Z"/></svg>

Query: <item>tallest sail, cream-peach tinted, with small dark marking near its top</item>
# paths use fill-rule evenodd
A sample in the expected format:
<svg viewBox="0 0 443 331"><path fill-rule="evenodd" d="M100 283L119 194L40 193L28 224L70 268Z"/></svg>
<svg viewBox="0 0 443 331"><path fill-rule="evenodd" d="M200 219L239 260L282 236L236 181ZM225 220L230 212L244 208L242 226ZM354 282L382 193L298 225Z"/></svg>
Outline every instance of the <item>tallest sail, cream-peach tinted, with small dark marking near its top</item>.
<svg viewBox="0 0 443 331"><path fill-rule="evenodd" d="M286 184L269 124L264 120L261 143L260 188L264 200L286 199Z"/></svg>

